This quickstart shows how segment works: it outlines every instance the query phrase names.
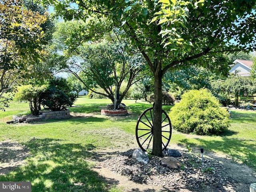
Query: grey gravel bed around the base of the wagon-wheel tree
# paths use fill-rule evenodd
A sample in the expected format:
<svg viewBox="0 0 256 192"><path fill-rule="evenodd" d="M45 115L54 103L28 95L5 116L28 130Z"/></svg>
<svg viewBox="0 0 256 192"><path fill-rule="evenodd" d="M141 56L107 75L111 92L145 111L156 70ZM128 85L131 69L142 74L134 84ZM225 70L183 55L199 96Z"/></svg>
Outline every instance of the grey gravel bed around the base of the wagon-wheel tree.
<svg viewBox="0 0 256 192"><path fill-rule="evenodd" d="M226 191L223 186L230 184L229 176L224 174L221 162L208 156L204 158L204 166L201 163L201 154L180 151L182 156L178 159L182 167L176 170L161 166L161 158L152 156L148 164L132 159L132 152L122 152L117 156L106 159L101 166L112 172L130 178L130 180L143 184L164 186L166 189L176 187L199 190L202 188L214 188L213 191ZM212 190L210 190L212 191Z"/></svg>

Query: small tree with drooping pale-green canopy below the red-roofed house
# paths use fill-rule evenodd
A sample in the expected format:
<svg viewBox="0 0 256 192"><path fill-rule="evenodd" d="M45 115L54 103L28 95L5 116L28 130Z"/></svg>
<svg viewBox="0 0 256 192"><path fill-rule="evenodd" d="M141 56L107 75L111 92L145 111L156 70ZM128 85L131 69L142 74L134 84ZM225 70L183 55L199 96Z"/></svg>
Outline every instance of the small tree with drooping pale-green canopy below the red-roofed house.
<svg viewBox="0 0 256 192"><path fill-rule="evenodd" d="M230 75L226 80L212 82L213 91L222 95L231 95L235 98L235 106L238 106L239 96L256 91L254 82L248 77Z"/></svg>

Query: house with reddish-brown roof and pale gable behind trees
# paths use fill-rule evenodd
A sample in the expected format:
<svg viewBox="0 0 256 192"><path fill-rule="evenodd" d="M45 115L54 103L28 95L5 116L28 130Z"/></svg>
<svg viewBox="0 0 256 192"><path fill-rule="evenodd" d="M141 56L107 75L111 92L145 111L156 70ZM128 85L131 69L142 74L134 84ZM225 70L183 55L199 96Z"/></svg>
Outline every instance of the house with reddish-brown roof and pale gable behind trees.
<svg viewBox="0 0 256 192"><path fill-rule="evenodd" d="M252 61L236 59L234 61L234 66L230 69L230 73L236 73L240 76L250 76L252 70Z"/></svg>

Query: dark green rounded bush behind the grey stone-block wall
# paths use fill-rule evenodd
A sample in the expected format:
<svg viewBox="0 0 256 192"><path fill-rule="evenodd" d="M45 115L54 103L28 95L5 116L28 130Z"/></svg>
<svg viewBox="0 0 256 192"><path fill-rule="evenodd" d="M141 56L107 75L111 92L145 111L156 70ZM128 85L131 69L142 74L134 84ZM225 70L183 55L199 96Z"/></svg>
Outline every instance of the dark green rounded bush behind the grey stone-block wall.
<svg viewBox="0 0 256 192"><path fill-rule="evenodd" d="M42 105L44 108L48 108L52 111L65 110L67 106L72 104L73 102L68 95L55 87L49 87L42 94Z"/></svg>

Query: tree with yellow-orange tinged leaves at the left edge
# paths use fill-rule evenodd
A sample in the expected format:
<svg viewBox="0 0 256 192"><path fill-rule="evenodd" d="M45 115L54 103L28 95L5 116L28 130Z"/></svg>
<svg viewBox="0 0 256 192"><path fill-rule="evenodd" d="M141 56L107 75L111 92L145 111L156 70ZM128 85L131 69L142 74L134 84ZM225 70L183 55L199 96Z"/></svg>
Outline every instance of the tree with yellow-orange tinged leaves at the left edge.
<svg viewBox="0 0 256 192"><path fill-rule="evenodd" d="M41 25L46 15L24 8L20 1L0 2L0 102L8 106L4 94L15 90L28 61L37 60L44 44Z"/></svg>

